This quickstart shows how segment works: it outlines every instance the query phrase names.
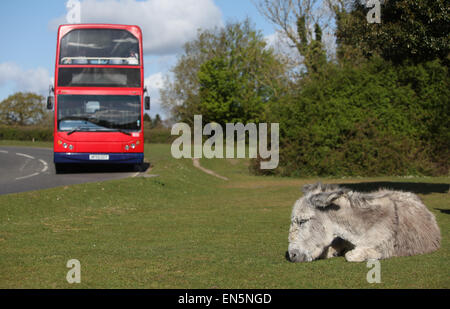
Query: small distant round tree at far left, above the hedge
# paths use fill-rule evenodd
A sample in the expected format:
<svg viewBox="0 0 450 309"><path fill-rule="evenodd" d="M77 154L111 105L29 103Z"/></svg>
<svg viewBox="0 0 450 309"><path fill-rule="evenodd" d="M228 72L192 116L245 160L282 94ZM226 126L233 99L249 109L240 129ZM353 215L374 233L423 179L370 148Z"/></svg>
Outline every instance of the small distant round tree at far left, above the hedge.
<svg viewBox="0 0 450 309"><path fill-rule="evenodd" d="M36 124L46 114L44 97L31 92L17 92L0 103L0 119L8 125Z"/></svg>

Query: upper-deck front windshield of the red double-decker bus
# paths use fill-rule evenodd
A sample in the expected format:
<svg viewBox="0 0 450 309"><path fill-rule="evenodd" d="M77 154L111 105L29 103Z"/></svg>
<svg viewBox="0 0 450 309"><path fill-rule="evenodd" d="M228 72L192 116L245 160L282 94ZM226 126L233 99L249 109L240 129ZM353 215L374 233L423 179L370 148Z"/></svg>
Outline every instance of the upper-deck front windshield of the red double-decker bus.
<svg viewBox="0 0 450 309"><path fill-rule="evenodd" d="M72 30L61 39L59 63L139 65L139 40L120 29Z"/></svg>

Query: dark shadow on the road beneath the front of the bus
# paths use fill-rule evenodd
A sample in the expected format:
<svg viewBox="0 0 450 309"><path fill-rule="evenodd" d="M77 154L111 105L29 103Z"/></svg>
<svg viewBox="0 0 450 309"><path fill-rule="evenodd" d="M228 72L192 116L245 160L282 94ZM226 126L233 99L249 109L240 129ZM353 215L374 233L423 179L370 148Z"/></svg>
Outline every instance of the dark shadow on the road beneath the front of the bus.
<svg viewBox="0 0 450 309"><path fill-rule="evenodd" d="M58 166L57 174L99 174L99 173L144 173L150 163L143 164L64 164Z"/></svg>

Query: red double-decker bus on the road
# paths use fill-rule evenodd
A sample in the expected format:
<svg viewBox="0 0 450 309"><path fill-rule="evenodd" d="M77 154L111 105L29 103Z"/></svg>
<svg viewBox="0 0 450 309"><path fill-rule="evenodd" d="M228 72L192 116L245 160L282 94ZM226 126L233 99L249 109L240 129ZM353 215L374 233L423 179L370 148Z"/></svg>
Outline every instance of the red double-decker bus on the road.
<svg viewBox="0 0 450 309"><path fill-rule="evenodd" d="M54 163L142 164L145 95L138 26L61 25L55 82Z"/></svg>

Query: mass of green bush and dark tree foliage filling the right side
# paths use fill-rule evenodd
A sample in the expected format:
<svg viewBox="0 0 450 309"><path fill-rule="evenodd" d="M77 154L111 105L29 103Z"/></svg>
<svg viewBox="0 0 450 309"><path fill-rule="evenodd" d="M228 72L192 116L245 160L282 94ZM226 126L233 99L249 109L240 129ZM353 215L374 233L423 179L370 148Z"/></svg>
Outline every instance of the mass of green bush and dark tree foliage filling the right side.
<svg viewBox="0 0 450 309"><path fill-rule="evenodd" d="M283 4L293 0L263 2L279 9L275 16L292 11ZM320 70L308 65L314 40L303 30L307 18L297 19L297 38L308 42L297 47L308 69L271 106L270 120L280 123L276 172L448 175L448 1L386 1L381 24L367 22L360 1L329 3L339 4L333 7L336 63L320 62Z"/></svg>

